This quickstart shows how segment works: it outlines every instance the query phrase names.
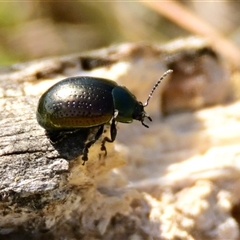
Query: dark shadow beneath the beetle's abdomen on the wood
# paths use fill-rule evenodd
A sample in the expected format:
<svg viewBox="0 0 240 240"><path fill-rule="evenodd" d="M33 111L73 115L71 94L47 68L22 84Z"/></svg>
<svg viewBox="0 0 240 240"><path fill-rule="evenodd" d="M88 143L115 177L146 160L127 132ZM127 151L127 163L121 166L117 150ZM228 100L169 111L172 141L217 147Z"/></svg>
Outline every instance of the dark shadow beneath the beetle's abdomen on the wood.
<svg viewBox="0 0 240 240"><path fill-rule="evenodd" d="M95 137L98 129L99 127L73 131L46 131L46 135L60 157L72 160L83 155L86 143Z"/></svg>

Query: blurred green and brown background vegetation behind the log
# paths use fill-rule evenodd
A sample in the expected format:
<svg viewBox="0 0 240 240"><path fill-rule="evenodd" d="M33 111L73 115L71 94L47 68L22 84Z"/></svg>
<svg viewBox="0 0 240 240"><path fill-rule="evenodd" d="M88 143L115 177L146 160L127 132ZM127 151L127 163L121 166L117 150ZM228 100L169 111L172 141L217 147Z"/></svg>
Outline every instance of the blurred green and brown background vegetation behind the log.
<svg viewBox="0 0 240 240"><path fill-rule="evenodd" d="M240 43L239 2L183 3ZM0 65L88 51L120 42L161 43L189 34L140 2L0 3Z"/></svg>

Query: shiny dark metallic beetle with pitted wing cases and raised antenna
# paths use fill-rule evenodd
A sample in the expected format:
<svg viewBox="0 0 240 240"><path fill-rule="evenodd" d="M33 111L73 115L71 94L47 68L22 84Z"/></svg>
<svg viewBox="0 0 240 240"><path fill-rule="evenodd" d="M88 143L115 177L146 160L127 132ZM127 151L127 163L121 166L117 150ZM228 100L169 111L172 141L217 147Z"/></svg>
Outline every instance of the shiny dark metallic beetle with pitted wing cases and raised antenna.
<svg viewBox="0 0 240 240"><path fill-rule="evenodd" d="M106 142L113 142L117 136L116 122L131 123L138 120L144 127L145 118L152 121L144 111L159 83L172 70L166 71L156 82L145 104L124 86L104 78L70 77L50 87L39 99L37 121L47 132L71 133L77 129L98 128L94 138L84 149L82 160L88 160L88 149L100 138L104 125L110 124L110 138L104 137L101 150L107 150Z"/></svg>

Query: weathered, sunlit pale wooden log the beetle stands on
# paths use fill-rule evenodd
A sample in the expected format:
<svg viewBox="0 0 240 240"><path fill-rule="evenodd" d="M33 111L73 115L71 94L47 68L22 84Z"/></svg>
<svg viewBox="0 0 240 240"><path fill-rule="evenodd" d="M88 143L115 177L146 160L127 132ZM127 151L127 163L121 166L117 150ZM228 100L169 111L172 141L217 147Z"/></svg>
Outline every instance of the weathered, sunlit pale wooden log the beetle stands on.
<svg viewBox="0 0 240 240"><path fill-rule="evenodd" d="M170 114L209 105L216 81L221 96L212 94L210 104L229 99L229 72L206 49L194 38L166 46L122 44L2 68L0 238L239 239L240 103L160 118L162 108ZM191 67L192 81L186 83L188 61L181 63L189 56L202 64L202 72ZM203 58L214 62L214 73ZM181 91L169 92L173 83L165 79L146 109L154 120L150 128L118 124L106 159L96 143L82 166L76 156L89 133L56 149L36 122L40 94L67 76L116 80L144 102L169 67L182 76L175 88ZM193 86L200 91L193 94ZM184 101L182 92L188 96ZM174 97L172 105L166 106L167 96Z"/></svg>

